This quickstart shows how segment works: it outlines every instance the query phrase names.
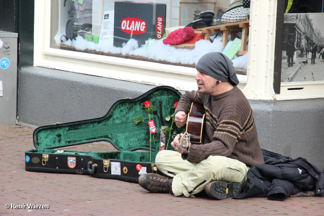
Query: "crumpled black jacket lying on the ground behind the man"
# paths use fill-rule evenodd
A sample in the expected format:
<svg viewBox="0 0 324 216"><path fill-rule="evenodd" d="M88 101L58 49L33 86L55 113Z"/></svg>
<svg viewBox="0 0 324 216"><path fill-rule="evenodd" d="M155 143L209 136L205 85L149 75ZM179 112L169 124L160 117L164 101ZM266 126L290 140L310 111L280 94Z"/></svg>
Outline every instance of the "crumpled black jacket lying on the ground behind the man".
<svg viewBox="0 0 324 216"><path fill-rule="evenodd" d="M300 191L324 193L324 172L305 158L292 159L262 149L264 165L252 166L248 173L250 186L235 198L267 197L270 200L284 200Z"/></svg>

